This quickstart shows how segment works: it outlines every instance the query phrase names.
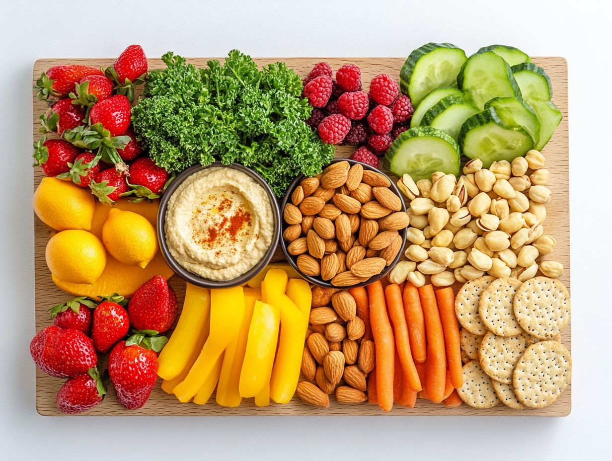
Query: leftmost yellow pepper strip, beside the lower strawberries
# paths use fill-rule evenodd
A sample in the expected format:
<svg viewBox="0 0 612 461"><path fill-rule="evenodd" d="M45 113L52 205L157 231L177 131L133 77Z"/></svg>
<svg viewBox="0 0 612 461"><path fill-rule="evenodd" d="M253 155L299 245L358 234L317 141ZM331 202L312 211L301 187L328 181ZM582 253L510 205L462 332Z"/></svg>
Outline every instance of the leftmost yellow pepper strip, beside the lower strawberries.
<svg viewBox="0 0 612 461"><path fill-rule="evenodd" d="M197 358L204 344L205 338L201 340L202 333L210 321L210 315L210 291L187 283L181 317L170 340L157 358L157 375L163 380L173 380L181 375L183 370L190 368L191 364L188 362L193 354L196 354Z"/></svg>

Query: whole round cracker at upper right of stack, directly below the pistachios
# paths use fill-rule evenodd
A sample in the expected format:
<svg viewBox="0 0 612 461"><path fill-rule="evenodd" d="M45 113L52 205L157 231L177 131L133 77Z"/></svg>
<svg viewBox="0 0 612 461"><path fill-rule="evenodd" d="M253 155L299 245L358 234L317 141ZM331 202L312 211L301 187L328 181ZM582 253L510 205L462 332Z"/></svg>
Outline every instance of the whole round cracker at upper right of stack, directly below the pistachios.
<svg viewBox="0 0 612 461"><path fill-rule="evenodd" d="M518 287L513 310L524 331L551 339L570 321L570 295L558 279L534 277Z"/></svg>

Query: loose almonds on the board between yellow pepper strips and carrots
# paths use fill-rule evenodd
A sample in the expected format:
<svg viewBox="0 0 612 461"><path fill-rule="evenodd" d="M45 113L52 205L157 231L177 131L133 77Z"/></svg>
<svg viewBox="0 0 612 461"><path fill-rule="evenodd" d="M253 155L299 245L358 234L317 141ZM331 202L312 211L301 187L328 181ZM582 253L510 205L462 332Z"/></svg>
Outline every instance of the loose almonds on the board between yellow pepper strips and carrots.
<svg viewBox="0 0 612 461"><path fill-rule="evenodd" d="M310 326L302 355L303 378L297 395L315 407L367 400L367 376L374 369L374 342L347 290L315 287ZM331 304L333 307L328 307Z"/></svg>

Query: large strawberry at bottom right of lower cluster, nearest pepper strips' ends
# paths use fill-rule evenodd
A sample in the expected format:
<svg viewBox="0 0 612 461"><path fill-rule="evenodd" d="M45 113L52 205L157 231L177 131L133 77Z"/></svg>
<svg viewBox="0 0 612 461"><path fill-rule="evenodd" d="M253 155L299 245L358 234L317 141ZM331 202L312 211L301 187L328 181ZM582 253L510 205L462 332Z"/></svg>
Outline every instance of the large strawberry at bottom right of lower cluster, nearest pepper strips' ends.
<svg viewBox="0 0 612 461"><path fill-rule="evenodd" d="M157 381L157 354L139 345L117 343L108 357L108 374L125 408L140 408Z"/></svg>

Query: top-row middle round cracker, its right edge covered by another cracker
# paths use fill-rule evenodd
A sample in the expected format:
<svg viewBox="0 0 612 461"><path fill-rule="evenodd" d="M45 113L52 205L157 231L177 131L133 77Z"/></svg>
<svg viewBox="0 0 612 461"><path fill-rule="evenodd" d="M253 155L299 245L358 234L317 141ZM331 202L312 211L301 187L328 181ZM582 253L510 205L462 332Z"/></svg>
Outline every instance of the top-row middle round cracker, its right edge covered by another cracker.
<svg viewBox="0 0 612 461"><path fill-rule="evenodd" d="M512 301L522 282L512 277L493 280L480 294L478 313L485 328L499 336L516 336L523 332L514 317Z"/></svg>

